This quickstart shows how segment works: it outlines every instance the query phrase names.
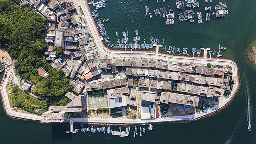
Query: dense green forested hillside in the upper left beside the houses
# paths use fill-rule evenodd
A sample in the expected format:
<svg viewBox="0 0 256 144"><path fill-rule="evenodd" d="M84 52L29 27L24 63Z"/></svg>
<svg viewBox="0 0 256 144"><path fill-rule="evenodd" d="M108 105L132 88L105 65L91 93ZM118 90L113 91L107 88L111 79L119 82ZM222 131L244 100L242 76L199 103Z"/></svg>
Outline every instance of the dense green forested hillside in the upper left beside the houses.
<svg viewBox="0 0 256 144"><path fill-rule="evenodd" d="M31 7L21 8L18 2L20 0L0 0L0 47L6 48L17 60L16 74L36 83L32 93L37 96L64 96L71 89L68 85L70 80L63 76L62 70L52 69L44 57L47 50L43 36L46 18ZM40 66L49 72L48 79L37 74Z"/></svg>

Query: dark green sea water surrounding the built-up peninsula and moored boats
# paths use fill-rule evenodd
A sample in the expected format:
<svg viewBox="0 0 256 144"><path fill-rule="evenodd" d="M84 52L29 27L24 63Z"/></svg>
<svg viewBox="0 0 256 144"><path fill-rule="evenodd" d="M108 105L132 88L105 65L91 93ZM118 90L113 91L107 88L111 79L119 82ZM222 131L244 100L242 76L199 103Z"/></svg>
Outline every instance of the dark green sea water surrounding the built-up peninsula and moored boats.
<svg viewBox="0 0 256 144"><path fill-rule="evenodd" d="M217 5L219 0L205 3L199 0L200 8L190 8L195 12L195 23L189 21L180 22L178 13L188 8L178 10L175 0L165 3L159 0L109 0L106 7L98 10L99 18L107 19L106 31L111 43L116 43L115 32L129 31L129 42L135 36L134 30L139 31L139 36L150 42L150 36L165 39L164 46L176 48L212 48L218 49L218 44L226 46L223 57L235 60L239 66L241 87L232 103L219 114L197 120L191 123L158 124L154 130L147 132L145 136L132 136L120 138L109 134L88 134L78 132L65 134L69 130L69 124L40 124L12 120L3 112L0 106L0 144L66 144L66 143L104 143L104 144L255 144L256 143L256 72L251 67L245 54L249 50L250 43L256 38L256 1L255 0L223 0L227 3L229 14L224 18L216 18L211 15L211 21L205 21L204 7ZM145 17L145 6L148 5L153 19L149 15ZM174 10L175 25L167 26L166 19L156 17L154 9L169 6ZM92 8L94 10L94 8ZM203 24L197 23L198 11L202 12ZM210 11L210 12L213 12ZM248 96L251 104L252 131L247 128ZM80 124L74 125L81 128ZM112 127L119 130L118 127ZM123 130L125 128L122 128ZM133 134L133 133L132 133Z"/></svg>

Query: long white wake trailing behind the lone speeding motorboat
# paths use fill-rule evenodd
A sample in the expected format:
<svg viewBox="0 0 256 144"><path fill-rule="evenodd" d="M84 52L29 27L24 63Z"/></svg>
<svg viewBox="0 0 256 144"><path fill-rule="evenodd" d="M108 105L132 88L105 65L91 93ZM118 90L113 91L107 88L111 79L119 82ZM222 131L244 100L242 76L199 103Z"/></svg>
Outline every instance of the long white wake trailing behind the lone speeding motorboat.
<svg viewBox="0 0 256 144"><path fill-rule="evenodd" d="M251 104L250 104L250 90L249 90L249 85L248 85L248 82L247 82L247 78L246 78L246 74L244 72L244 79L245 79L245 85L246 85L246 99L247 99L247 104L248 104L248 107L246 109L246 114L247 114L247 122L248 122L248 129L249 131L251 131Z"/></svg>

